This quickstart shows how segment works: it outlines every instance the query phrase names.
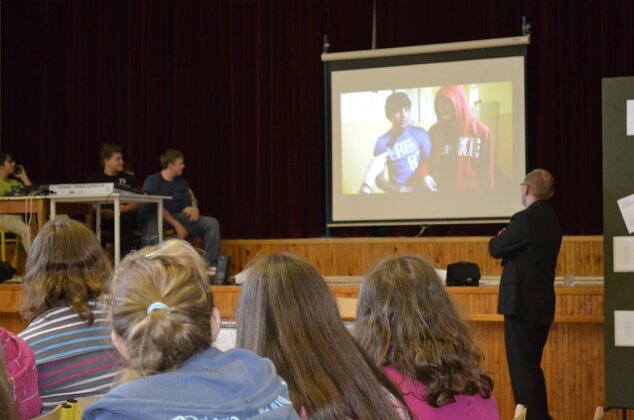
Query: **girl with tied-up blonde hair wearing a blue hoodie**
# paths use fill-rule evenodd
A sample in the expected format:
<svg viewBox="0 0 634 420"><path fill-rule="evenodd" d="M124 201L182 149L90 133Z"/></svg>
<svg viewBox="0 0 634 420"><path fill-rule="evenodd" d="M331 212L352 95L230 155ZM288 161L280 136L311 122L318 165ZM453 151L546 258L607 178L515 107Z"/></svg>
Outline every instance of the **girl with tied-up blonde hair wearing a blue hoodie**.
<svg viewBox="0 0 634 420"><path fill-rule="evenodd" d="M121 262L105 301L126 363L84 419L298 418L269 360L212 347L220 312L207 279L204 259L181 240Z"/></svg>

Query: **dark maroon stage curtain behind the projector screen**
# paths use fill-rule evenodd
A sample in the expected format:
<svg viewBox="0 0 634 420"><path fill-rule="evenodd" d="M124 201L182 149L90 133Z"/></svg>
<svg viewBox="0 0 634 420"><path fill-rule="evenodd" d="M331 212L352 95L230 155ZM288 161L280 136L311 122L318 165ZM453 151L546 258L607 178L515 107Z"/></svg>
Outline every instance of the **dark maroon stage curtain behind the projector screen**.
<svg viewBox="0 0 634 420"><path fill-rule="evenodd" d="M176 148L223 237L324 235L322 35L331 52L369 49L372 5L3 0L2 147L38 183L82 182L106 141L141 183ZM519 35L527 16L529 166L555 175L566 234L602 232L601 78L634 74L632 2L376 0L376 10L378 48Z"/></svg>

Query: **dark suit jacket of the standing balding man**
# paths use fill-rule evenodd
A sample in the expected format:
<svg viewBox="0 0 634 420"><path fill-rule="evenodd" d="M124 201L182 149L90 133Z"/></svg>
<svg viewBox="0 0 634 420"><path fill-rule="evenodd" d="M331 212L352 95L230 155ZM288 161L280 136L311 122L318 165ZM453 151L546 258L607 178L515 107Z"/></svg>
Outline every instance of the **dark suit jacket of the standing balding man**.
<svg viewBox="0 0 634 420"><path fill-rule="evenodd" d="M498 313L550 324L555 314L555 266L561 226L548 201L513 215L506 230L489 242L502 258Z"/></svg>

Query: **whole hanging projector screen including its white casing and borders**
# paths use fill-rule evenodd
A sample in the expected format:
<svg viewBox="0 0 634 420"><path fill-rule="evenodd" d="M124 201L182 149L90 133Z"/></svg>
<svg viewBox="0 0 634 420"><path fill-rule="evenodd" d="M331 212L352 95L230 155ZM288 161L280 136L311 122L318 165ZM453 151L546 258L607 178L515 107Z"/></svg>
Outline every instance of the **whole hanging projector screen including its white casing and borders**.
<svg viewBox="0 0 634 420"><path fill-rule="evenodd" d="M328 225L488 223L518 211L527 42L324 54Z"/></svg>

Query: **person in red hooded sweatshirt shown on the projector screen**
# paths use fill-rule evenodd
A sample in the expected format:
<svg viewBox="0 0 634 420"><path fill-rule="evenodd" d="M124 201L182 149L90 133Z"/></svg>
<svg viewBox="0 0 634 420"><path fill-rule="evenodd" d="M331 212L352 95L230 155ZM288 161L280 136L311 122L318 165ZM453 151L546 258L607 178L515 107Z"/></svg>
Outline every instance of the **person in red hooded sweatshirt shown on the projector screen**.
<svg viewBox="0 0 634 420"><path fill-rule="evenodd" d="M495 183L491 130L471 114L464 87L441 87L434 108L437 122L429 129L429 166L421 165L421 171L431 173L439 191L492 191Z"/></svg>

